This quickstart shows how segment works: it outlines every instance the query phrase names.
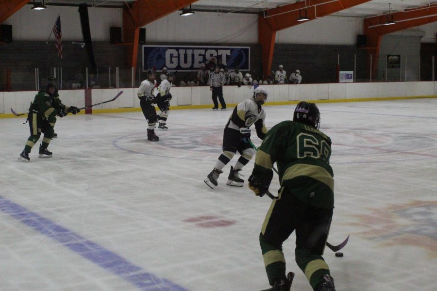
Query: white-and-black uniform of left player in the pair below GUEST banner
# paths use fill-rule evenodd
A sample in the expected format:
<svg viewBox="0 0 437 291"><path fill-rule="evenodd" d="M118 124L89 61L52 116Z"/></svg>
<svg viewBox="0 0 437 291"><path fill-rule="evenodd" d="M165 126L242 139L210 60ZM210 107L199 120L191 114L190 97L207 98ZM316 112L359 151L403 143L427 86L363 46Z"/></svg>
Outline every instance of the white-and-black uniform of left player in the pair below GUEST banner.
<svg viewBox="0 0 437 291"><path fill-rule="evenodd" d="M149 129L155 129L156 125L156 109L153 103L156 103L153 91L155 90L156 80L144 80L139 86L137 96L140 99L141 110L146 117Z"/></svg>

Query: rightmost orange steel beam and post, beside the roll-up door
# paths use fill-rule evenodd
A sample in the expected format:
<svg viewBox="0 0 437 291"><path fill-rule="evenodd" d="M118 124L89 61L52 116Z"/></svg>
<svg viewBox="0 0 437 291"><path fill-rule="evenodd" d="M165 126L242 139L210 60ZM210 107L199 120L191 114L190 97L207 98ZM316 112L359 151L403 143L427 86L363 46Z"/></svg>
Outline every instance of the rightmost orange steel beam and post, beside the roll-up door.
<svg viewBox="0 0 437 291"><path fill-rule="evenodd" d="M368 54L373 56L372 76L376 76L378 70L379 49L384 34L437 21L437 4L421 8L423 9L392 13L393 21L396 22L394 25L384 25L387 22L387 15L374 16L364 20L364 33L367 35L367 46L369 47Z"/></svg>

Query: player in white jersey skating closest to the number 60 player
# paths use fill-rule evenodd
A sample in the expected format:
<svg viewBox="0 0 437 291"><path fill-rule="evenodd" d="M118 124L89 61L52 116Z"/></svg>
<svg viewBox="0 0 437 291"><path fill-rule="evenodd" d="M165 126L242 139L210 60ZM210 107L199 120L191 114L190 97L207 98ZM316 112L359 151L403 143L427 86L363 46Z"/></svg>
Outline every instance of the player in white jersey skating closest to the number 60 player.
<svg viewBox="0 0 437 291"><path fill-rule="evenodd" d="M223 130L223 152L218 157L214 169L203 180L210 188L218 185L218 176L223 173L224 166L232 160L236 152L240 153L240 158L231 166L226 185L242 187L244 180L239 178L239 171L252 159L255 149L250 140L251 129L254 124L256 135L263 140L267 134L267 128L264 124L266 113L261 107L267 100L267 91L262 87L257 87L253 91L252 99L244 100L235 106L234 111L229 117L229 121Z"/></svg>

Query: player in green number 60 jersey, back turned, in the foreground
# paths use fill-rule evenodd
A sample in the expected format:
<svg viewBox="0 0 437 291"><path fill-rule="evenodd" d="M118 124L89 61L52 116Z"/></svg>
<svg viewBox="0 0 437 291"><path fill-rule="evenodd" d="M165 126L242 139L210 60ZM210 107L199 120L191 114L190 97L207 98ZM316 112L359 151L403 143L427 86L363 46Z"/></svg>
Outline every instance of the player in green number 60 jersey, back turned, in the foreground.
<svg viewBox="0 0 437 291"><path fill-rule="evenodd" d="M259 241L269 291L289 291L282 243L296 230L295 259L314 291L335 291L322 258L334 208L334 174L329 165L331 139L319 131L316 104L300 102L293 121L269 130L259 147L249 188L262 196L269 190L276 162L281 189L267 212Z"/></svg>

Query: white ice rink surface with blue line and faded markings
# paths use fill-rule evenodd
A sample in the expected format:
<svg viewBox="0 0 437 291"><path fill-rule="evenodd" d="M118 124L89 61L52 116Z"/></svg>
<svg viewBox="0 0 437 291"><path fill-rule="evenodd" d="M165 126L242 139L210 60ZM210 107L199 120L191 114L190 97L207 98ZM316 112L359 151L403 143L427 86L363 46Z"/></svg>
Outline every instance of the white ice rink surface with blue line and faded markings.
<svg viewBox="0 0 437 291"><path fill-rule="evenodd" d="M337 291L437 290L437 99L318 106L333 142L328 241L351 235L343 258L325 249ZM267 127L294 107L265 106ZM267 288L258 235L271 200L226 185L238 156L218 187L203 183L231 113L173 110L157 143L141 112L69 114L56 123L53 158L37 157L38 142L29 163L17 161L25 119L0 119L0 290ZM294 245L292 234L292 290L310 291Z"/></svg>

